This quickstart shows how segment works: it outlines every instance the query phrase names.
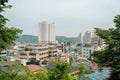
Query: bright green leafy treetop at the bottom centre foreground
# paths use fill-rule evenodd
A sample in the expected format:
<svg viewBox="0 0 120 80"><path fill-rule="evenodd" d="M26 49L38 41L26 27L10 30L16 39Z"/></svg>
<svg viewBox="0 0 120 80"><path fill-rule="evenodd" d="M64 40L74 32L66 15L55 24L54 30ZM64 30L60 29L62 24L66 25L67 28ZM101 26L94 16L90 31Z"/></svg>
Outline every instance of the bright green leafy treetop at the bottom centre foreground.
<svg viewBox="0 0 120 80"><path fill-rule="evenodd" d="M49 80L73 80L73 78L69 75L71 67L67 62L58 60L52 64L53 68L48 70Z"/></svg>

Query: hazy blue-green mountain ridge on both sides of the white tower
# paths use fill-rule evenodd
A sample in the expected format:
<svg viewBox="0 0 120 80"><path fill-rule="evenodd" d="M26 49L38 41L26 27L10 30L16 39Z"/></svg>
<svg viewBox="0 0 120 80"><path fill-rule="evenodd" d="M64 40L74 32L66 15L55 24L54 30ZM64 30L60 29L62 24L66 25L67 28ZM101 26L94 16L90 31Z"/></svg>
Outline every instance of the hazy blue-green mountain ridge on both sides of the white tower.
<svg viewBox="0 0 120 80"><path fill-rule="evenodd" d="M76 37L56 36L56 40L65 42L75 42ZM38 43L38 36L21 35L16 39L16 42Z"/></svg>

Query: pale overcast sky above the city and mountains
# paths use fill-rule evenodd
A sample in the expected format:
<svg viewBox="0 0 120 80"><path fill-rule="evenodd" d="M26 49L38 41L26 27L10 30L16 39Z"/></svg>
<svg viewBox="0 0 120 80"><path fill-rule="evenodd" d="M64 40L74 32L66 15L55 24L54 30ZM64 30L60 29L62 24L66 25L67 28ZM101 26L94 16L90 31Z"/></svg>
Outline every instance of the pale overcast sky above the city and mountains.
<svg viewBox="0 0 120 80"><path fill-rule="evenodd" d="M38 35L38 23L54 22L56 35L76 37L94 27L114 26L114 16L120 14L120 0L9 0L13 7L5 16L8 26L23 30L23 34Z"/></svg>

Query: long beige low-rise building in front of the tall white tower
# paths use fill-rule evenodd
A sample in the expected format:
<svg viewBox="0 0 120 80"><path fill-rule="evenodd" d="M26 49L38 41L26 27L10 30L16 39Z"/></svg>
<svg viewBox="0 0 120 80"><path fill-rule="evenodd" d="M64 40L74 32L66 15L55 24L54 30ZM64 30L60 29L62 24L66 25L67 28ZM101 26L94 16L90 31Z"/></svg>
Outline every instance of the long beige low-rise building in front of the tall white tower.
<svg viewBox="0 0 120 80"><path fill-rule="evenodd" d="M27 50L19 51L19 58L27 61L40 61L57 54L54 46L27 46Z"/></svg>

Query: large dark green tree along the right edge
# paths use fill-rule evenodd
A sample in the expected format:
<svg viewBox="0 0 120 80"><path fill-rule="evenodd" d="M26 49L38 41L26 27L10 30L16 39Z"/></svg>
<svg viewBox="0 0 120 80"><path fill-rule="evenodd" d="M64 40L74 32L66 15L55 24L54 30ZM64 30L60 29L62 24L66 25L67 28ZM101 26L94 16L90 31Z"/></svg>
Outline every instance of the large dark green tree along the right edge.
<svg viewBox="0 0 120 80"><path fill-rule="evenodd" d="M115 16L115 28L103 30L96 28L96 33L105 44L105 49L93 53L94 61L101 67L111 67L108 80L120 80L120 15Z"/></svg>

